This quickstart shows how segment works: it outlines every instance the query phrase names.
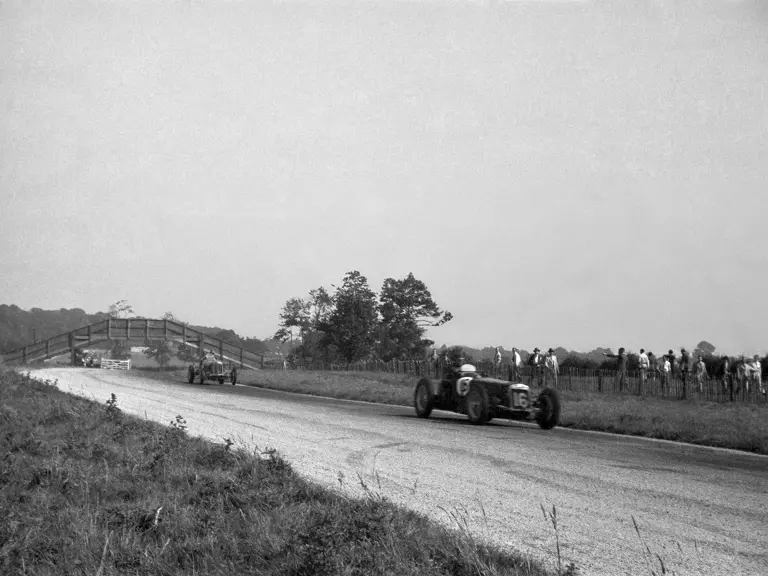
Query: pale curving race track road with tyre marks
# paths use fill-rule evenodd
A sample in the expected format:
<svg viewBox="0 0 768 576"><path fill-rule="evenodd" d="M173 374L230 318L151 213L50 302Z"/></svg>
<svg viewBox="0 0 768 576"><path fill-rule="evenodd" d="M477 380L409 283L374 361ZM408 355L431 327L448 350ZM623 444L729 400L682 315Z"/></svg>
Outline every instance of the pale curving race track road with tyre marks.
<svg viewBox="0 0 768 576"><path fill-rule="evenodd" d="M562 561L582 574L660 574L657 554L679 575L768 574L765 456L528 423L476 427L446 412L420 420L397 406L240 385L37 375L99 403L115 393L124 411L165 424L182 415L193 435L276 448L315 481L353 494L365 484L550 565L555 535L541 507L555 506Z"/></svg>

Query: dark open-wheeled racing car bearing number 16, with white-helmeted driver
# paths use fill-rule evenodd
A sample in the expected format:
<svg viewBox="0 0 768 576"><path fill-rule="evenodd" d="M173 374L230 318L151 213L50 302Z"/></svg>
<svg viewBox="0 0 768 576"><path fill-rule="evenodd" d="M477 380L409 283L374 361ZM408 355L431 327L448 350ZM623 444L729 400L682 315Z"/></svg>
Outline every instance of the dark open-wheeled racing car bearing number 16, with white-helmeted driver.
<svg viewBox="0 0 768 576"><path fill-rule="evenodd" d="M419 418L428 418L432 410L449 410L466 414L473 424L485 424L493 418L534 419L549 430L560 423L557 390L545 388L533 400L525 384L489 378L472 364L449 370L439 381L421 378L413 405Z"/></svg>

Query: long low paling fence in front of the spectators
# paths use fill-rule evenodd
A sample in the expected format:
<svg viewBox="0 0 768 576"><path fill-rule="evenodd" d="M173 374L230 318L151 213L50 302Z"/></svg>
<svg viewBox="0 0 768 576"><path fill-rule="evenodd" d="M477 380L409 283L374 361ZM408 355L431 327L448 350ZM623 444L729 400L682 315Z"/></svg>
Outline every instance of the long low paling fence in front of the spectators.
<svg viewBox="0 0 768 576"><path fill-rule="evenodd" d="M666 398L694 399L711 402L752 402L766 403L766 395L761 388L765 384L757 378L703 376L696 378L688 374L685 379L680 372L664 375L658 370L620 372L619 370L590 368L560 368L555 376L543 366L520 366L515 368L507 363L499 366L491 360L474 363L477 370L488 376L523 382L533 388L552 387L573 392L597 392L605 394L636 394L640 396L658 396ZM291 365L282 360L267 361L264 368L296 369L308 371L339 372L385 372L390 374L428 376L440 378L446 368L443 361L432 360L371 360L351 364L328 364L311 362L303 365Z"/></svg>

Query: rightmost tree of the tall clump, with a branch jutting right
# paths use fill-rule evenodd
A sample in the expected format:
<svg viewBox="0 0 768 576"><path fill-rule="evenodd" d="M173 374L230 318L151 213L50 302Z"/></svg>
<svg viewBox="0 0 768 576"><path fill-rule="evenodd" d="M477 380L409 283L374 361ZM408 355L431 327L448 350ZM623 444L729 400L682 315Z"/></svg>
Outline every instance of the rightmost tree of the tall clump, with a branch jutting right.
<svg viewBox="0 0 768 576"><path fill-rule="evenodd" d="M434 342L423 338L426 329L449 322L453 315L432 299L426 284L409 273L406 278L387 278L379 295L381 348L384 359L423 356Z"/></svg>

